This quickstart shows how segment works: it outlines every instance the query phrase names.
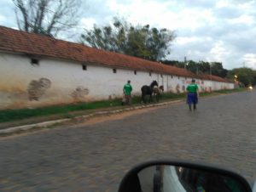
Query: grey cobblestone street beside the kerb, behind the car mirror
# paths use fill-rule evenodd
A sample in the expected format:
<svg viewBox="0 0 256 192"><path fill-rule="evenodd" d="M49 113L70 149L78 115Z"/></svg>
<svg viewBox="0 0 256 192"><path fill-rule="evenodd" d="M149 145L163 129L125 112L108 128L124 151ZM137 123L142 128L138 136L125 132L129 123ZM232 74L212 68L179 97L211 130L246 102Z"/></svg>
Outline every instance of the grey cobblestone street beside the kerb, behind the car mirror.
<svg viewBox="0 0 256 192"><path fill-rule="evenodd" d="M97 124L0 138L0 191L117 191L155 158L205 161L256 179L256 92L201 99Z"/></svg>

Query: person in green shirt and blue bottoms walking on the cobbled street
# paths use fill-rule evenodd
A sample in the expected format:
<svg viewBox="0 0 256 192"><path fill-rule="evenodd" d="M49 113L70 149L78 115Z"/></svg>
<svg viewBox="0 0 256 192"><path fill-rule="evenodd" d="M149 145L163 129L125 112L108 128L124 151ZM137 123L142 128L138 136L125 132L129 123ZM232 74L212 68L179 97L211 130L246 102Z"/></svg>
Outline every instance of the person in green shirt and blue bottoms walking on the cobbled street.
<svg viewBox="0 0 256 192"><path fill-rule="evenodd" d="M196 104L198 103L198 86L195 84L195 79L192 79L191 83L187 87L187 103L189 104L189 110L192 110L192 104L193 109L196 110Z"/></svg>

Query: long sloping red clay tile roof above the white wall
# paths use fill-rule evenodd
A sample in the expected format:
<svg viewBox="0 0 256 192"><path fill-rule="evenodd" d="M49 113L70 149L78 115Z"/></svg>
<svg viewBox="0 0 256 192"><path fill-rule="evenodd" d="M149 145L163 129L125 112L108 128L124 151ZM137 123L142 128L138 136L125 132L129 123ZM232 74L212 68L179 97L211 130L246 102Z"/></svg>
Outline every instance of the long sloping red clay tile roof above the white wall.
<svg viewBox="0 0 256 192"><path fill-rule="evenodd" d="M101 49L90 48L78 43L65 42L25 31L17 31L4 26L0 26L0 50L20 54L35 54L55 59L90 62L92 64L95 63L137 71L152 71L175 76L197 77L190 71L171 65L164 65L125 54L117 54ZM211 79L211 77L206 74L198 77L208 80ZM227 82L219 76L212 76L212 80Z"/></svg>

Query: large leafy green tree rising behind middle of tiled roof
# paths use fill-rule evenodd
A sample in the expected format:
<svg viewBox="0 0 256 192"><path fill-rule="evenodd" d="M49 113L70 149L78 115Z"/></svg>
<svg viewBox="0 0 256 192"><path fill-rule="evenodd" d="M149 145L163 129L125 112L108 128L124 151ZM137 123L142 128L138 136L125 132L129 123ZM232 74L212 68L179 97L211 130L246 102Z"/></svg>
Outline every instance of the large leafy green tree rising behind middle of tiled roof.
<svg viewBox="0 0 256 192"><path fill-rule="evenodd" d="M81 43L143 59L159 60L170 54L174 31L150 28L149 25L131 25L124 19L113 18L113 24L85 30Z"/></svg>

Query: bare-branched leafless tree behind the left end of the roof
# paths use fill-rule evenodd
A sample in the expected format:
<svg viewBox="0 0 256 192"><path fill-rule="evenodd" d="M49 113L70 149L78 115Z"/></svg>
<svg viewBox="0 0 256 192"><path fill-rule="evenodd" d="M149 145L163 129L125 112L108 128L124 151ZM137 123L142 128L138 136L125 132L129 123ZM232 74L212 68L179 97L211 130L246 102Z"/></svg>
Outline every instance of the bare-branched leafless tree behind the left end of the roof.
<svg viewBox="0 0 256 192"><path fill-rule="evenodd" d="M78 23L80 0L13 0L21 31L56 36Z"/></svg>

